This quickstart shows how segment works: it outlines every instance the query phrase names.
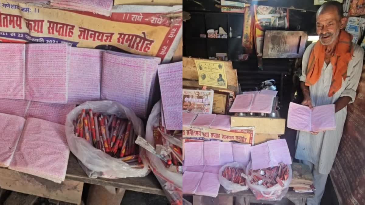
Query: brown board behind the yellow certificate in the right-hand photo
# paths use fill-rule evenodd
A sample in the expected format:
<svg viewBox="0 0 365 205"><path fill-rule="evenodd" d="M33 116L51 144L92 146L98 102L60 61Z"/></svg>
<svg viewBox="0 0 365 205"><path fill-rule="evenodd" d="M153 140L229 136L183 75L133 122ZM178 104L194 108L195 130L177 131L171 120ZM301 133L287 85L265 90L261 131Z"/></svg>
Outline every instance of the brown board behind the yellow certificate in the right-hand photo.
<svg viewBox="0 0 365 205"><path fill-rule="evenodd" d="M199 85L198 83L198 71L196 70L194 59L197 58L183 57L183 79L190 80L191 82L196 82L196 85L198 85L197 88L201 88L202 86ZM233 69L231 61L222 61L222 62L224 62L224 67L226 68L226 76L228 84L227 90L232 90L234 92L237 92L238 91L237 70ZM184 80L183 80L183 86L184 86ZM210 87L210 88L214 90L222 89L215 87Z"/></svg>

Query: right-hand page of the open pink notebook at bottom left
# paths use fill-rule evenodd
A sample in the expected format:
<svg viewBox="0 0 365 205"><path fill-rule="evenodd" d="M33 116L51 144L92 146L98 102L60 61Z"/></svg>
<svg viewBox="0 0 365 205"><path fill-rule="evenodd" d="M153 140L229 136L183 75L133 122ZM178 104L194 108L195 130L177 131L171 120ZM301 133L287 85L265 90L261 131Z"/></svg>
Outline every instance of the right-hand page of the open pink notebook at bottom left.
<svg viewBox="0 0 365 205"><path fill-rule="evenodd" d="M69 154L64 125L28 118L9 169L61 183Z"/></svg>

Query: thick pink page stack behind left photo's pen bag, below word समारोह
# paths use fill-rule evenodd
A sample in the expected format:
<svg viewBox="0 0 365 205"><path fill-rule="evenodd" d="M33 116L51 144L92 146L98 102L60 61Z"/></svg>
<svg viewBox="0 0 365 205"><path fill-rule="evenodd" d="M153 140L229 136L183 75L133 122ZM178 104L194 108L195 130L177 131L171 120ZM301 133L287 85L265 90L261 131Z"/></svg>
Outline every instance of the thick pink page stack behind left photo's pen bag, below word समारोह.
<svg viewBox="0 0 365 205"><path fill-rule="evenodd" d="M101 98L120 102L145 119L160 61L156 57L104 52Z"/></svg>

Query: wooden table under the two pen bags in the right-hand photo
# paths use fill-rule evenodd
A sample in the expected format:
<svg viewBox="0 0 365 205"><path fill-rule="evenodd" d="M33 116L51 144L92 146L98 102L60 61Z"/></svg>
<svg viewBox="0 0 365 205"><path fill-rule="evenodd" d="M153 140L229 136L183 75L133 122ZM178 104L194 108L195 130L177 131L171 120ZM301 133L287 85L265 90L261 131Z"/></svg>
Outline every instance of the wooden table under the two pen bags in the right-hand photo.
<svg viewBox="0 0 365 205"><path fill-rule="evenodd" d="M312 198L313 196L313 193L296 193L290 188L284 198L288 198L295 205L306 205L307 198ZM276 203L256 200L255 196L250 190L227 194L223 187L220 186L218 197L216 198L193 195L193 205L233 205L233 197L235 197L234 205L249 205L251 202L258 204Z"/></svg>

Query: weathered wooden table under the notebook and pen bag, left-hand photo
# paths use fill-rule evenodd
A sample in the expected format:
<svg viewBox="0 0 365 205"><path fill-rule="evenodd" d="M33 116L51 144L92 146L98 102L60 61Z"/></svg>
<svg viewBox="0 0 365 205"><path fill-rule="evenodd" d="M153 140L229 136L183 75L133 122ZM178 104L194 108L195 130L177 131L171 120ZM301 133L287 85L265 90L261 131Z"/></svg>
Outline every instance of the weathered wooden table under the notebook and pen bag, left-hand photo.
<svg viewBox="0 0 365 205"><path fill-rule="evenodd" d="M132 190L149 194L165 195L153 173L146 177L125 179L89 178L76 157L70 153L66 178L61 184L14 170L0 168L0 187L25 194L51 198L73 204L81 203L84 183L112 186L122 190ZM124 194L124 192L123 192Z"/></svg>

